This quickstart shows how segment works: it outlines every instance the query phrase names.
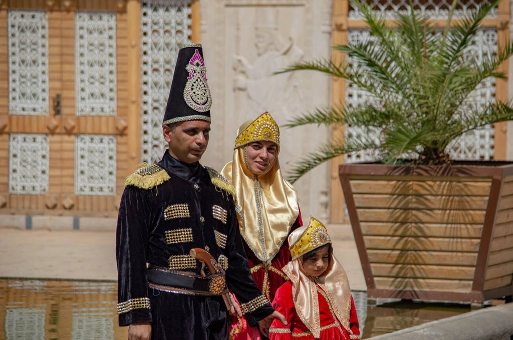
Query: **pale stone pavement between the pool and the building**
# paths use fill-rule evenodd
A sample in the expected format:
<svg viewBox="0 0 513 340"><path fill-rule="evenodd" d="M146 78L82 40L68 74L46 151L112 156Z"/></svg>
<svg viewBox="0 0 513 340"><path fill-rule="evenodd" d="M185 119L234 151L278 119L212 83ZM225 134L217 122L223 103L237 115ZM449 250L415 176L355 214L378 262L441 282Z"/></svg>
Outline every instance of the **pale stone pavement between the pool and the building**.
<svg viewBox="0 0 513 340"><path fill-rule="evenodd" d="M328 225L334 254L352 290L367 290L349 225ZM0 226L0 278L117 280L115 232Z"/></svg>

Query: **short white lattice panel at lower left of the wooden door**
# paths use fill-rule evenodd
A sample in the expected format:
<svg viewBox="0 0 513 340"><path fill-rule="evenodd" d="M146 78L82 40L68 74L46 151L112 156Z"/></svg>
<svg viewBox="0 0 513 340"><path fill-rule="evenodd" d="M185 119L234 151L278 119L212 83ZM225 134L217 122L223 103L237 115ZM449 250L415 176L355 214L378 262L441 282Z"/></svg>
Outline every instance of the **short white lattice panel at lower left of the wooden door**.
<svg viewBox="0 0 513 340"><path fill-rule="evenodd" d="M47 135L9 135L9 193L38 195L48 192Z"/></svg>

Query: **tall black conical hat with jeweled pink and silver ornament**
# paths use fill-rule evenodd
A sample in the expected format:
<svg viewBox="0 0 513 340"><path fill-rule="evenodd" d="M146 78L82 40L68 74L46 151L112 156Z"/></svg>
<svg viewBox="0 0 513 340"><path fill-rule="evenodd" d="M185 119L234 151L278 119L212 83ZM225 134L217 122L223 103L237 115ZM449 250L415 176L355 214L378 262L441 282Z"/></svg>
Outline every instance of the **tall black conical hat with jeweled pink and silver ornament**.
<svg viewBox="0 0 513 340"><path fill-rule="evenodd" d="M162 125L198 119L210 122L211 105L203 48L200 44L182 45Z"/></svg>

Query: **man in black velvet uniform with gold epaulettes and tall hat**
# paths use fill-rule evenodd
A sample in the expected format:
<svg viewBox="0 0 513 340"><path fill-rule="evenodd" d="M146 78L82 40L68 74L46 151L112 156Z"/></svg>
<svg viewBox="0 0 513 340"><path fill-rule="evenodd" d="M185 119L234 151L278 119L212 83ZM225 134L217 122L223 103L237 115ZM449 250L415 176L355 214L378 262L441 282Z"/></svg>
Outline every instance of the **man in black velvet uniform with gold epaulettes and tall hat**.
<svg viewBox="0 0 513 340"><path fill-rule="evenodd" d="M285 320L250 278L233 187L199 163L210 105L202 47L183 46L164 114L169 149L126 178L120 203L117 311L130 340L227 339L228 288L264 335Z"/></svg>

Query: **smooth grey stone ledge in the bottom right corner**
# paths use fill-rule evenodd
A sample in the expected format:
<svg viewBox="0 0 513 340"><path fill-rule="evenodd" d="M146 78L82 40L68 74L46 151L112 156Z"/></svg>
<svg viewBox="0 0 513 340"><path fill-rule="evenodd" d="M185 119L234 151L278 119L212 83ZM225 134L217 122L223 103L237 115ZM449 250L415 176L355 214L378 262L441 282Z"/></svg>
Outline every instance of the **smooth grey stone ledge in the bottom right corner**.
<svg viewBox="0 0 513 340"><path fill-rule="evenodd" d="M511 338L513 338L513 303L470 311L369 339L510 340Z"/></svg>

